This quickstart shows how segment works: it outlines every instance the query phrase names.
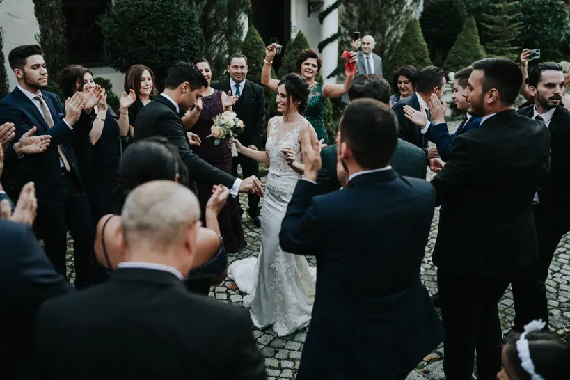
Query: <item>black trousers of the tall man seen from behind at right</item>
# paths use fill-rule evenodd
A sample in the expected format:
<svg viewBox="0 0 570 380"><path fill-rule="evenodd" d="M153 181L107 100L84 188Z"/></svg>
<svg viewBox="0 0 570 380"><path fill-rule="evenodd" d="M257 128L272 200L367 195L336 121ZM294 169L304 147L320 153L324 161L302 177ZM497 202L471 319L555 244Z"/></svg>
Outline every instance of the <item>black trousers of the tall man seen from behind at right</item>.
<svg viewBox="0 0 570 380"><path fill-rule="evenodd" d="M502 333L497 303L509 278L484 278L438 271L445 328L443 370L448 380L470 380L477 349L477 379L496 379L501 369Z"/></svg>

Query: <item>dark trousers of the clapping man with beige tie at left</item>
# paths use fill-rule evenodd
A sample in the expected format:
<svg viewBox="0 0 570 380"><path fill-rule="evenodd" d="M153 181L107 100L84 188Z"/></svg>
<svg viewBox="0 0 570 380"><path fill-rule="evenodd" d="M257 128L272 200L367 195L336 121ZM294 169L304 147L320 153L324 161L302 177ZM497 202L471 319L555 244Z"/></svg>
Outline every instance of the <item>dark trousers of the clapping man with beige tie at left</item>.
<svg viewBox="0 0 570 380"><path fill-rule="evenodd" d="M56 271L66 277L65 264L68 248L68 229L73 237L73 260L75 264L75 286L87 287L95 283L97 270L93 243L95 227L87 197L77 177L70 173L61 175L61 193L58 203L38 215L36 224L44 241L45 253ZM104 271L102 271L104 275Z"/></svg>

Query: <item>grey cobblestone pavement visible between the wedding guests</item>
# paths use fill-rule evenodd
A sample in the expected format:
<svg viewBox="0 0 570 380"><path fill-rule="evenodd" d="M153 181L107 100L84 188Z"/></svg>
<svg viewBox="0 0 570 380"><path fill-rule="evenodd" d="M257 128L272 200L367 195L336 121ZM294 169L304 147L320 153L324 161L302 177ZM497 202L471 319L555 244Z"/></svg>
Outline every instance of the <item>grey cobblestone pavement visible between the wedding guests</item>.
<svg viewBox="0 0 570 380"><path fill-rule="evenodd" d="M452 124L457 128L457 122ZM428 174L428 180L434 176L433 173ZM262 179L265 183L265 178ZM242 207L247 209L247 197L242 195L239 197ZM262 201L263 202L263 201ZM261 203L262 205L262 203ZM439 219L439 211L436 209L434 220L432 222L432 230L429 233L429 240L425 249L426 255L422 264L421 278L430 293L436 292L436 268L432 264L432 252L437 237L437 226ZM253 225L251 219L244 214L243 218L244 231L246 233L247 248L235 255L230 255L228 260L233 262L247 258L249 256L257 256L260 251L261 231ZM308 258L311 265L315 265L315 258ZM70 268L71 269L71 268ZM212 287L209 296L218 299L221 302L232 303L235 306L243 307L242 296L239 290L232 290L235 285L229 278L219 286ZM228 287L230 287L228 289ZM570 234L564 236L555 253L553 263L551 265L550 274L547 280L548 303L551 307L551 325L556 330L570 325ZM509 324L514 317L514 307L512 293L507 290L499 303L500 319L503 331L509 330ZM310 328L310 326L309 326ZM270 380L276 379L294 379L296 370L299 368L301 351L303 342L307 336L308 328L303 328L296 333L287 337L278 338L271 328L265 331L259 331L252 326L253 336L258 342L262 354L265 356L265 364L269 373ZM342 347L338 347L342 350ZM407 380L438 380L444 379L443 374L443 344L436 351L427 356L427 361L418 363L416 370L409 374Z"/></svg>

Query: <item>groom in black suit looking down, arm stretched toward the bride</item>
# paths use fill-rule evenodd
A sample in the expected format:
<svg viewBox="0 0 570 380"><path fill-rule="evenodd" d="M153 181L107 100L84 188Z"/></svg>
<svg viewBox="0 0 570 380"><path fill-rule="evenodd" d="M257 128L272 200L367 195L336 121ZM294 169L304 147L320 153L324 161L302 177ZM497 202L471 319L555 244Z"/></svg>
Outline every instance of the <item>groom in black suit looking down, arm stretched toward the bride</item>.
<svg viewBox="0 0 570 380"><path fill-rule="evenodd" d="M195 181L199 181L212 186L222 184L230 189L232 196L237 196L239 191L263 196L258 177L251 176L240 180L214 168L190 149L190 141L180 115L202 96L206 86L207 81L196 65L188 62L175 63L168 71L164 92L138 113L134 125L134 140L150 136L168 138L168 141L178 148L182 161L188 167L191 178L189 187L195 193Z"/></svg>

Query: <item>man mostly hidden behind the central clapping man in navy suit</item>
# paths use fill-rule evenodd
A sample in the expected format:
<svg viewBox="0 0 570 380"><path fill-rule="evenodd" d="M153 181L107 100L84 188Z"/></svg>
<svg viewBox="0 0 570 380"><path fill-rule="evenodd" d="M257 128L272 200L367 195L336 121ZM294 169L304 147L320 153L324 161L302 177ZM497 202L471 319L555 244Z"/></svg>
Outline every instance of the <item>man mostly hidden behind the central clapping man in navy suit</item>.
<svg viewBox="0 0 570 380"><path fill-rule="evenodd" d="M390 105L390 84L379 75L363 74L352 81L348 95L351 102L357 99L370 98ZM320 194L330 193L342 186L338 180L337 152L336 144L321 151L322 168L317 176ZM402 138L398 138L390 165L400 175L425 180L427 166L424 152L417 146L402 140ZM341 170L342 174L345 172Z"/></svg>

